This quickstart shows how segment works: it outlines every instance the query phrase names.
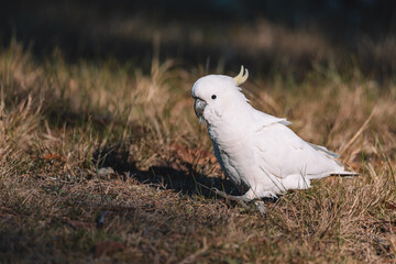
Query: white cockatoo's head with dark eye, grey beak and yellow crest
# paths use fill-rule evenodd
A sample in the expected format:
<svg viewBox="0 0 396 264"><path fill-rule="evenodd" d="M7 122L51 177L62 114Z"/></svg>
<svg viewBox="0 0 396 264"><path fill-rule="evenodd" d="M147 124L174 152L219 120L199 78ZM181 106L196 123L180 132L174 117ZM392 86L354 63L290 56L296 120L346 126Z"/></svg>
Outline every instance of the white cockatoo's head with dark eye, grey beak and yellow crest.
<svg viewBox="0 0 396 264"><path fill-rule="evenodd" d="M242 85L248 79L248 69L241 67L240 74L232 78L224 75L208 75L199 78L191 88L195 99L194 110L199 122L211 123L224 114L232 114L232 110L246 103L246 98L241 92Z"/></svg>

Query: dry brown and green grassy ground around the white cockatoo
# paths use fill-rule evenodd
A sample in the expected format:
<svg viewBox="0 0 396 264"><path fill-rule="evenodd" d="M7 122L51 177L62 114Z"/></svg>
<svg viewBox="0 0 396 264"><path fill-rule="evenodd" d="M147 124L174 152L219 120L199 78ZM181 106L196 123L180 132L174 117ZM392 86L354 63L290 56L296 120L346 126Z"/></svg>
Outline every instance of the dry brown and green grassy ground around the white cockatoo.
<svg viewBox="0 0 396 264"><path fill-rule="evenodd" d="M263 218L207 188L237 194L193 110L190 87L206 74L156 58L148 74L111 59L69 64L62 51L37 62L15 42L3 47L0 260L395 261L395 82L319 65L301 81L251 76L254 107L361 173L266 201Z"/></svg>

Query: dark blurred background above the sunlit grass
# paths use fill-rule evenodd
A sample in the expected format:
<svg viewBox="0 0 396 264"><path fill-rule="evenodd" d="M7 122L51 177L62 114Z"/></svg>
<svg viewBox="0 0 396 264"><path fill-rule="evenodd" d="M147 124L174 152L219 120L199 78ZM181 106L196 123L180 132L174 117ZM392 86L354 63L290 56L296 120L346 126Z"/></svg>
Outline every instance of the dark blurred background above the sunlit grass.
<svg viewBox="0 0 396 264"><path fill-rule="evenodd" d="M393 78L396 1L145 0L6 1L0 43L35 59L61 51L68 63L129 62L145 72L153 56L209 72L248 65L263 77L302 78L315 65L358 67Z"/></svg>

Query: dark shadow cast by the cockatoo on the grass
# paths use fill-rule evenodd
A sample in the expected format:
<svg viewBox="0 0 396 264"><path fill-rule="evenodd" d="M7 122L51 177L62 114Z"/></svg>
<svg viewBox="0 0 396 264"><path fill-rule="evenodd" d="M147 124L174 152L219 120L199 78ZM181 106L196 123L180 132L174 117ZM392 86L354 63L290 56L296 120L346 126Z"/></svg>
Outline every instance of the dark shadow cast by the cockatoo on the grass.
<svg viewBox="0 0 396 264"><path fill-rule="evenodd" d="M141 184L160 187L166 190L174 190L188 196L204 196L213 198L216 194L211 188L217 188L230 195L240 195L238 188L224 178L208 177L194 168L194 164L180 162L182 168L175 168L172 164L154 165L147 169L140 169L138 161L131 161L130 152L123 144L97 148L92 162L98 168L111 167L124 179L132 177Z"/></svg>

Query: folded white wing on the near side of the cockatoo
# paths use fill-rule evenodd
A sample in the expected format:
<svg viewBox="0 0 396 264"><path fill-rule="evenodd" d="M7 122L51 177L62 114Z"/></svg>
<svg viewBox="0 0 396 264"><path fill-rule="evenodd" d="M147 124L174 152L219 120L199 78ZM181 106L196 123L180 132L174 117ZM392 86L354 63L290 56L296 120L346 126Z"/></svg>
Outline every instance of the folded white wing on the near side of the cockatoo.
<svg viewBox="0 0 396 264"><path fill-rule="evenodd" d="M336 153L301 140L283 122L265 122L254 134L255 158L266 173L280 178L300 174L309 179L346 173Z"/></svg>

